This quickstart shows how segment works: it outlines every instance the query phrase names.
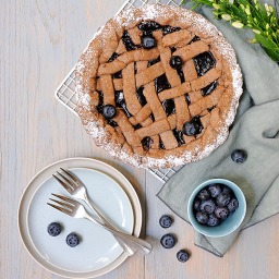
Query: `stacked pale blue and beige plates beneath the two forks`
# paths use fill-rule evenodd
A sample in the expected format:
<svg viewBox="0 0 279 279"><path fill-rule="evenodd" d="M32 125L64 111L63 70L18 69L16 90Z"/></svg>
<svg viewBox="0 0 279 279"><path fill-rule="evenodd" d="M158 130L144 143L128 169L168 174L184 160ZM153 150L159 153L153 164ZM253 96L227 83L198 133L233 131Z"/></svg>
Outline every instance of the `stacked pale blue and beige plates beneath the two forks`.
<svg viewBox="0 0 279 279"><path fill-rule="evenodd" d="M104 275L125 260L111 233L85 219L74 219L51 207L51 193L68 192L51 177L59 168L71 169L86 185L89 197L122 231L138 236L142 210L131 183L114 168L88 158L58 161L40 171L25 190L19 208L19 229L27 251L51 272L72 278L93 278ZM50 236L47 226L58 221L63 230ZM65 243L70 232L82 241L76 247Z"/></svg>

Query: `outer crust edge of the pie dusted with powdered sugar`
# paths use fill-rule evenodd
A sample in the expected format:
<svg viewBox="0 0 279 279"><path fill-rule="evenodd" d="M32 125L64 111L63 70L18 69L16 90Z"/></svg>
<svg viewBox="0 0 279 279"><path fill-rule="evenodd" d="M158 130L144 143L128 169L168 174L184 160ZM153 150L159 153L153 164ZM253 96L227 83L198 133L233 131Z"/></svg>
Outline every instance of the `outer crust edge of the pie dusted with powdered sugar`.
<svg viewBox="0 0 279 279"><path fill-rule="evenodd" d="M196 146L192 150L186 149L182 154L179 154L177 156L169 155L165 158L159 159L147 156L143 157L134 153L131 154L125 151L120 144L112 144L110 141L107 140L107 131L100 125L98 121L96 121L94 114L90 112L89 109L90 89L87 86L89 84L89 80L86 80L87 77L84 76L84 72L86 71L85 65L88 65L88 61L92 61L92 57L96 57L96 59L98 59L98 49L96 50L92 48L90 45L88 45L84 52L85 54L82 57L76 66L76 93L78 99L77 107L78 113L81 116L81 119L83 120L83 124L86 131L90 134L93 138L95 138L95 143L105 148L111 156L141 168L175 167L201 160L202 158L208 156L214 149L216 149L227 140L229 135L228 128L234 120L235 112L239 106L239 98L242 94L242 74L240 66L236 63L234 50L223 38L221 33L216 28L216 26L214 26L202 15L181 8L167 7L161 4L148 4L137 10L123 11L119 15L117 15L113 21L120 26L129 26L140 23L144 20L171 20L171 13L175 13L178 15L178 19L175 19L177 23L181 22L182 24L187 24L190 26L189 28L194 31L195 34L204 38L210 39L210 44L222 56L222 59L228 63L231 72L232 87L234 93L233 99L227 112L223 125L219 128L219 133L216 134L216 137L211 141L210 144L207 144L203 147ZM108 26L106 25L97 32L94 39L99 36L106 39L106 37L109 37L109 35L110 28L108 28Z"/></svg>

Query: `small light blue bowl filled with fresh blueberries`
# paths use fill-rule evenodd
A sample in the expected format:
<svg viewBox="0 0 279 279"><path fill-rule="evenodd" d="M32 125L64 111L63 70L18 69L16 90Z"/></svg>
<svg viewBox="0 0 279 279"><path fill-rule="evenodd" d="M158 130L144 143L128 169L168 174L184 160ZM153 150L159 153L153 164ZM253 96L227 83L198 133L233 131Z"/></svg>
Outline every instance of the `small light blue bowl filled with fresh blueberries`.
<svg viewBox="0 0 279 279"><path fill-rule="evenodd" d="M243 192L225 179L211 179L199 184L187 204L189 219L194 229L211 238L221 238L235 231L245 214Z"/></svg>

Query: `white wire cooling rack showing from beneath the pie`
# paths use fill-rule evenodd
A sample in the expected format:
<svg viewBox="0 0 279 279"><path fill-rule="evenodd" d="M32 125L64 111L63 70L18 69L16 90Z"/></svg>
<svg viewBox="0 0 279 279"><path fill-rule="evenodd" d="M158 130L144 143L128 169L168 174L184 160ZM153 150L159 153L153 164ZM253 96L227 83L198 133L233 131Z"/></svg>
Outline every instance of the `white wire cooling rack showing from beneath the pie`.
<svg viewBox="0 0 279 279"><path fill-rule="evenodd" d="M179 7L182 0L129 0L122 5L119 10L128 10L131 8L141 8L147 3L162 3L169 4L173 7ZM118 13L119 13L118 12ZM74 71L75 66L72 71L66 75L63 82L59 85L56 90L56 98L64 105L68 109L70 109L73 113L76 113L76 94L75 94L75 80L74 80ZM150 173L153 173L157 179L159 179L162 183L166 183L174 173L177 173L182 167L177 167L172 169L148 169Z"/></svg>

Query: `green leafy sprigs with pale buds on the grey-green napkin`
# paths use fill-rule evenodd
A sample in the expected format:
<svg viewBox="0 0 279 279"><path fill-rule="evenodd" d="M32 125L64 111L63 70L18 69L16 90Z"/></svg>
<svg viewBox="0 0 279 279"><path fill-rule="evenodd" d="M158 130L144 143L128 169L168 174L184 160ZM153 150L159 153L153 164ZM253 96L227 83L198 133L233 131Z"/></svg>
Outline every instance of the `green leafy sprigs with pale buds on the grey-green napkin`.
<svg viewBox="0 0 279 279"><path fill-rule="evenodd" d="M201 4L213 8L217 19L230 22L235 28L251 28L255 34L251 43L260 44L272 60L279 61L279 19L271 5L260 4L257 0L191 1L195 3L193 9Z"/></svg>

